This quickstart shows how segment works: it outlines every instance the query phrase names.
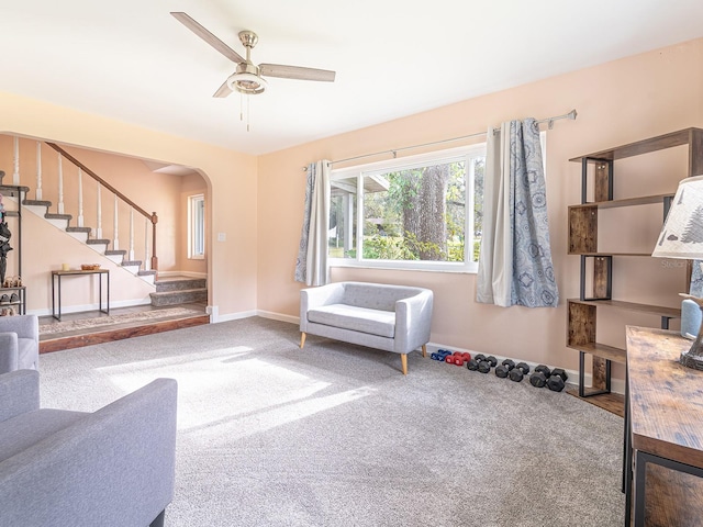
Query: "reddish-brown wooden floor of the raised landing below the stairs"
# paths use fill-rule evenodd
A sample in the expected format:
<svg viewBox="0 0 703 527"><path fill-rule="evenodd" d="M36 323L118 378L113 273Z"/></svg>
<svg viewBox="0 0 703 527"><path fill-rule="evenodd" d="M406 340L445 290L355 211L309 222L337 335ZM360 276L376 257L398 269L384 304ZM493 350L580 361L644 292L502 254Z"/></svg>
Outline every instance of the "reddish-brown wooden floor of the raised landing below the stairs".
<svg viewBox="0 0 703 527"><path fill-rule="evenodd" d="M138 337L142 335L152 335L154 333L170 332L183 327L199 326L210 323L210 315L205 314L205 304L179 304L177 306L169 305L164 307L154 307L152 305L138 305L133 307L122 307L110 310L110 315L143 313L154 310L167 310L170 307L187 307L196 313L187 316L174 316L159 319L132 321L130 323L114 324L110 326L98 326L85 329L75 329L64 333L55 333L41 335L41 326L46 324L56 324L53 316L40 317L40 354L49 351L59 351L62 349L80 348L93 344L109 343L112 340L121 340L124 338ZM97 311L86 313L70 313L62 315L62 321L77 321L81 318L97 318L108 315Z"/></svg>

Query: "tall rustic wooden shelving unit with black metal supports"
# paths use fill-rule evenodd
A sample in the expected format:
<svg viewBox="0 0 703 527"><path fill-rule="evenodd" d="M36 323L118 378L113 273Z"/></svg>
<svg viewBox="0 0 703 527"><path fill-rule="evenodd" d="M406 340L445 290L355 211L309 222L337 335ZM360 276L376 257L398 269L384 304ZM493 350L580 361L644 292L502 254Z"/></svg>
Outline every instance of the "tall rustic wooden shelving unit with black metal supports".
<svg viewBox="0 0 703 527"><path fill-rule="evenodd" d="M660 305L639 304L614 300L613 259L622 257L650 257L651 253L603 253L599 250L599 211L661 203L662 222L669 211L676 189L670 194L613 199L614 165L618 159L639 156L674 146L688 145L688 170L683 177L703 173L703 130L685 128L647 138L628 145L588 154L570 159L581 164L581 203L569 206L568 254L581 258L580 292L578 299L567 301L567 346L579 351L579 396L591 397L611 393L612 362L626 363L626 352L598 340L596 313L599 309L617 309L647 313L661 317L661 327L681 316L681 310ZM591 171L590 171L591 169ZM589 175L592 177L589 178ZM589 183L592 198L589 201ZM652 240L654 247L655 240ZM590 285L587 288L587 284ZM623 328L624 332L624 328ZM584 357L591 355L592 389L584 386ZM591 400L598 404L598 397ZM607 399L607 397L605 397Z"/></svg>

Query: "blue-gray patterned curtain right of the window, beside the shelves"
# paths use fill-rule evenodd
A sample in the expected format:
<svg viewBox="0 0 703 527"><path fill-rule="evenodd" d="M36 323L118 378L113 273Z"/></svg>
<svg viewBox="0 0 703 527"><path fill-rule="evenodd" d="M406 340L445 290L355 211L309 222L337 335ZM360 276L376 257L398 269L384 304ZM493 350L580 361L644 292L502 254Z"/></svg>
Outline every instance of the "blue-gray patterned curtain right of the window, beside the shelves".
<svg viewBox="0 0 703 527"><path fill-rule="evenodd" d="M559 292L551 262L537 122L503 123L500 137L489 131L488 146L477 301L556 307ZM488 214L492 217L487 218Z"/></svg>

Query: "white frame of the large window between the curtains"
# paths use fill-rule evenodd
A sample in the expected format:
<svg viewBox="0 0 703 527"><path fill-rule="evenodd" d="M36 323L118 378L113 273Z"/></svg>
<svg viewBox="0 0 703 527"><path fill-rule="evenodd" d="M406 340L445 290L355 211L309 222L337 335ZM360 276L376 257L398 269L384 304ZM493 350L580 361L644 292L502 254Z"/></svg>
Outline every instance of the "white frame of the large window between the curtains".
<svg viewBox="0 0 703 527"><path fill-rule="evenodd" d="M471 159L477 157L486 158L486 143L478 143L468 146L434 150L425 154L405 156L400 158L375 161L365 165L333 169L330 180L356 178L356 257L355 258L333 258L328 257L331 267L350 267L367 269L401 269L415 271L439 271L439 272L460 272L476 273L478 272L478 261L472 261L473 255L473 221L476 203L473 199L473 162ZM464 160L466 172L466 214L465 214L465 244L464 259L465 261L431 261L431 260L379 260L365 259L364 253L364 177L387 173L389 171L398 171L409 168L417 168L420 166L435 165L442 162L453 162ZM360 244L359 244L360 242Z"/></svg>

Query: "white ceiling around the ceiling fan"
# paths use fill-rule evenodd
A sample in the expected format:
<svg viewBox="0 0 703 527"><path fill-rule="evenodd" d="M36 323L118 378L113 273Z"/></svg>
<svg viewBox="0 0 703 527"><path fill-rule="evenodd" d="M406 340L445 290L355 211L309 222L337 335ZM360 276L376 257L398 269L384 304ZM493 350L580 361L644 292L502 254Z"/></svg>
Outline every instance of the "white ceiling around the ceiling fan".
<svg viewBox="0 0 703 527"><path fill-rule="evenodd" d="M249 154L417 113L703 36L702 0L0 0L0 91ZM253 60L337 71L212 94L235 65L170 11ZM570 108L565 108L565 112ZM471 131L467 131L471 132Z"/></svg>

